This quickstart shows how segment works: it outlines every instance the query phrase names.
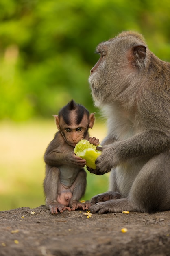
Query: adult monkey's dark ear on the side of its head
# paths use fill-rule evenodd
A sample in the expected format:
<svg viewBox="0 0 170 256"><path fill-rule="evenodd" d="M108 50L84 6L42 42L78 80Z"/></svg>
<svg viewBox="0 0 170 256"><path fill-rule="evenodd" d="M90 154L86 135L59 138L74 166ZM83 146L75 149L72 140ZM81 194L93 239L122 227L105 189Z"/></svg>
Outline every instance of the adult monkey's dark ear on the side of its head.
<svg viewBox="0 0 170 256"><path fill-rule="evenodd" d="M144 45L137 45L131 48L131 61L133 66L144 66L144 59L146 57L146 47Z"/></svg>

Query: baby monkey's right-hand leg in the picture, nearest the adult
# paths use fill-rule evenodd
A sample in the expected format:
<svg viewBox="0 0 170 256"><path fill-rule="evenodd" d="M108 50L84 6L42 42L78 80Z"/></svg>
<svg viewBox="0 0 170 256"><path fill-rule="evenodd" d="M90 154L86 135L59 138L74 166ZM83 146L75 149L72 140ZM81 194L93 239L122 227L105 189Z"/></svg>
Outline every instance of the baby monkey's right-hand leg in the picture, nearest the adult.
<svg viewBox="0 0 170 256"><path fill-rule="evenodd" d="M89 202L81 203L79 200L85 194L85 189L87 185L86 181L87 173L84 169L81 169L76 177L76 180L71 186L72 191L72 198L70 200L70 207L72 211L76 210L77 208L82 208L83 210L89 209L91 204Z"/></svg>

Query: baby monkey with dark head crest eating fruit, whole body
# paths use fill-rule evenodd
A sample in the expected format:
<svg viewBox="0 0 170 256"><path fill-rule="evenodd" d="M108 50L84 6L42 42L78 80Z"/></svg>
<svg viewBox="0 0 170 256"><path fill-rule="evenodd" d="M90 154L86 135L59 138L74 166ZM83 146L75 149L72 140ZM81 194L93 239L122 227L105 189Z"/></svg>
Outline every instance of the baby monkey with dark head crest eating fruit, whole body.
<svg viewBox="0 0 170 256"><path fill-rule="evenodd" d="M99 140L89 137L88 129L94 125L94 114L73 100L54 115L58 132L44 154L46 176L44 193L46 207L58 213L77 208L88 209L89 202L79 202L86 189L86 161L74 154L74 147L81 139L97 146Z"/></svg>

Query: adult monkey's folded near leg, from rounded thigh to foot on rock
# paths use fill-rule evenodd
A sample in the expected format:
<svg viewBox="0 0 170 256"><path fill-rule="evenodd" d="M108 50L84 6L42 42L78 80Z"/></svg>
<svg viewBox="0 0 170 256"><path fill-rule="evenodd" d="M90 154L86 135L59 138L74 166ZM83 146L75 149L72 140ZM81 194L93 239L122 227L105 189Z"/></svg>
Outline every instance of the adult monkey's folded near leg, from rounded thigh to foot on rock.
<svg viewBox="0 0 170 256"><path fill-rule="evenodd" d="M150 159L139 171L127 198L100 202L90 207L92 213L122 211L155 212L170 209L169 151Z"/></svg>

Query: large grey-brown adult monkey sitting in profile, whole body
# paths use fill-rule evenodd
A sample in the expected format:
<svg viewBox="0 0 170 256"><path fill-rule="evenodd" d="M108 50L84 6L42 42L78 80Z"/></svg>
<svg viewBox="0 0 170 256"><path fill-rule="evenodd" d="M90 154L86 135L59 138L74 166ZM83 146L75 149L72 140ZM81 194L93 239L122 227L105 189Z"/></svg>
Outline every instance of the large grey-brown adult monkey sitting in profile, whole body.
<svg viewBox="0 0 170 256"><path fill-rule="evenodd" d="M108 135L89 171L111 175L110 192L94 196L90 210L170 210L170 63L131 31L100 43L97 52L89 83L107 115ZM112 199L114 192L121 198Z"/></svg>

